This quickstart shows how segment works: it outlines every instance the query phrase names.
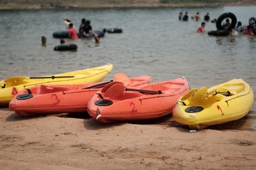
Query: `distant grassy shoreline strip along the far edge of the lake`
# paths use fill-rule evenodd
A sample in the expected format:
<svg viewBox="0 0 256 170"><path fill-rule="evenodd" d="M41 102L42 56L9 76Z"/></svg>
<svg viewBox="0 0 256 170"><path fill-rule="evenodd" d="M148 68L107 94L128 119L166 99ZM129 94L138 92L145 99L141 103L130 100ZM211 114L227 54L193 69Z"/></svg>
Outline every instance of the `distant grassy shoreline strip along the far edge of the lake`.
<svg viewBox="0 0 256 170"><path fill-rule="evenodd" d="M251 3L132 3L132 4L109 4L109 3L46 3L46 4L26 4L26 3L0 3L0 10L48 10L48 9L83 9L83 8L168 8L168 7L218 7L218 6L256 6L256 2Z"/></svg>

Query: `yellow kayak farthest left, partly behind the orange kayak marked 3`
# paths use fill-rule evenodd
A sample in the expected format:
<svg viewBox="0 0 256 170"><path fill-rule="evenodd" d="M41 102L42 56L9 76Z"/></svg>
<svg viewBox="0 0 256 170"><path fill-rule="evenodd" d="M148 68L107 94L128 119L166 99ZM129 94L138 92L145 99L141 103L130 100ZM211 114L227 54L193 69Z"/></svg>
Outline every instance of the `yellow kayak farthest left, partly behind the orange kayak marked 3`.
<svg viewBox="0 0 256 170"><path fill-rule="evenodd" d="M41 84L82 84L102 81L113 68L112 64L69 73L38 77L11 77L0 81L0 106L6 106L21 90Z"/></svg>

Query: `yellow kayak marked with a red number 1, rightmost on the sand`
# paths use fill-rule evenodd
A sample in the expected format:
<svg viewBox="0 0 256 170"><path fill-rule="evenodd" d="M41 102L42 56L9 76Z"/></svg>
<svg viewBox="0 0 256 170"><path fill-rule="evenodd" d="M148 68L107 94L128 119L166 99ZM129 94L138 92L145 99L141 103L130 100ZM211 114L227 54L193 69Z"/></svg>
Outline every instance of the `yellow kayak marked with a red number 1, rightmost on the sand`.
<svg viewBox="0 0 256 170"><path fill-rule="evenodd" d="M242 79L207 89L191 89L173 108L173 119L191 129L223 124L244 117L252 108L253 92Z"/></svg>

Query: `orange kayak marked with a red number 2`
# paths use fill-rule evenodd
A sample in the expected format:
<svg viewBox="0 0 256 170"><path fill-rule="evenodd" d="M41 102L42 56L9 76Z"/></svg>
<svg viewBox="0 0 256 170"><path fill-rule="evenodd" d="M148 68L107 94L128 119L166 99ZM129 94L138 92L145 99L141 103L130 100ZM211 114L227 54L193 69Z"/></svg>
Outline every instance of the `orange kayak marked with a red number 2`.
<svg viewBox="0 0 256 170"><path fill-rule="evenodd" d="M114 81L93 95L87 111L104 123L159 118L172 113L177 99L188 90L185 78L140 85L136 89Z"/></svg>

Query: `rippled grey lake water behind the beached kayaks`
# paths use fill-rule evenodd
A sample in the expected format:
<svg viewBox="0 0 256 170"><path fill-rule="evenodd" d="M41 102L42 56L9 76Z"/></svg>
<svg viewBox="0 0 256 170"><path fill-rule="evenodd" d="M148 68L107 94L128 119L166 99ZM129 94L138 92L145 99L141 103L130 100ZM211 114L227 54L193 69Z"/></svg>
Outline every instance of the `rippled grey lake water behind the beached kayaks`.
<svg viewBox="0 0 256 170"><path fill-rule="evenodd" d="M189 17L206 12L211 19L227 11L248 25L256 17L256 6L216 8L99 8L83 10L0 10L0 80L10 76L40 76L113 64L115 73L152 75L152 81L186 77L191 88L212 87L233 78L243 78L256 91L256 36L227 37L198 34L201 22L179 22L179 12ZM94 30L118 27L122 34L94 39L66 39L76 43L76 52L56 52L60 39L52 32L65 30L64 18L78 29L81 18L91 20ZM207 22L206 31L216 30ZM41 36L47 46L41 46ZM240 129L256 129L256 106L243 118ZM248 123L250 122L250 124ZM241 121L240 121L241 123Z"/></svg>

